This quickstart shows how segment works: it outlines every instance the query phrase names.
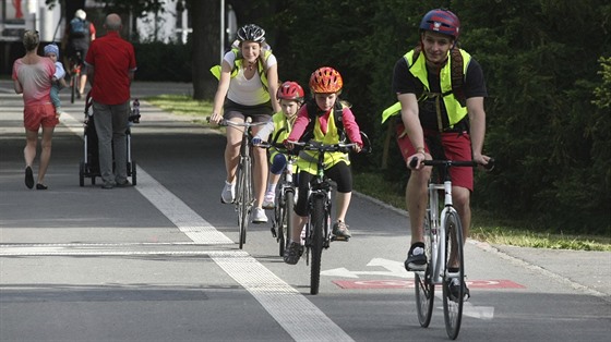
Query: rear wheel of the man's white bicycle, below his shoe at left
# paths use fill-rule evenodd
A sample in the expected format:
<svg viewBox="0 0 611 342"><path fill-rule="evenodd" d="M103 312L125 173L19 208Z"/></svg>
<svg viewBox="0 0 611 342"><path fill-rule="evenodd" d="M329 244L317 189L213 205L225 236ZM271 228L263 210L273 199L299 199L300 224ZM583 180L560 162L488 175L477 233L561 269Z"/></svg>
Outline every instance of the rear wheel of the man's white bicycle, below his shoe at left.
<svg viewBox="0 0 611 342"><path fill-rule="evenodd" d="M429 218L426 218L428 220ZM415 291L416 291L416 308L418 312L418 321L422 328L429 327L431 316L433 315L433 303L435 300L435 284L433 283L433 259L431 257L431 244L433 239L429 227L424 231L424 253L427 255L428 266L426 271L415 273Z"/></svg>

